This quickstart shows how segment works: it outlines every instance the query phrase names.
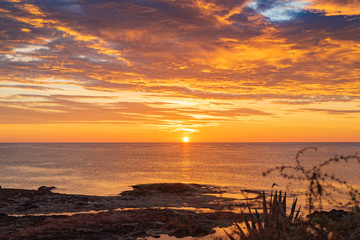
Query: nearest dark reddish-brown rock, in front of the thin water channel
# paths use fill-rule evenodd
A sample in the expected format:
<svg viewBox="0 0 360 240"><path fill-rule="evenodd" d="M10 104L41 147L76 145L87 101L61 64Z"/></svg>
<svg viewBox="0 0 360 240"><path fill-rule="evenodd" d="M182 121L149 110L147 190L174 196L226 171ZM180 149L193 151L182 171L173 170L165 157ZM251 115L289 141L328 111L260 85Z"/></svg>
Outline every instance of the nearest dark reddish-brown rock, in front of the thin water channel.
<svg viewBox="0 0 360 240"><path fill-rule="evenodd" d="M240 215L169 209L108 211L49 217L1 217L0 239L137 239L167 234L201 237L228 227Z"/></svg>

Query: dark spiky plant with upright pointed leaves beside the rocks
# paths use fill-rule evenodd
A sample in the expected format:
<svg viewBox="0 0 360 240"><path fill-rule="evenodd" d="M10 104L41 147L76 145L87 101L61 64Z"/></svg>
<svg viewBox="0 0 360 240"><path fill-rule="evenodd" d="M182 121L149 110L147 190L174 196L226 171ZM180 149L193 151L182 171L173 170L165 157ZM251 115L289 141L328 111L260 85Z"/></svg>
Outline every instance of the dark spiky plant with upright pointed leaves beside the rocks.
<svg viewBox="0 0 360 240"><path fill-rule="evenodd" d="M306 229L299 227L297 223L300 221L300 209L296 211L297 197L294 198L290 214L286 215L286 192L282 195L280 191L277 191L273 195L271 192L269 203L266 202L265 193L263 192L263 214L260 216L257 209L255 213L251 211L248 206L249 215L251 218L251 224L244 216L244 223L247 229L247 234L241 229L238 223L235 223L237 227L237 235L241 240L243 239L297 239L301 236L302 239L304 234L306 235ZM225 231L225 230L224 230ZM226 232L226 235L230 240L235 240L234 234ZM300 234L301 233L301 234Z"/></svg>

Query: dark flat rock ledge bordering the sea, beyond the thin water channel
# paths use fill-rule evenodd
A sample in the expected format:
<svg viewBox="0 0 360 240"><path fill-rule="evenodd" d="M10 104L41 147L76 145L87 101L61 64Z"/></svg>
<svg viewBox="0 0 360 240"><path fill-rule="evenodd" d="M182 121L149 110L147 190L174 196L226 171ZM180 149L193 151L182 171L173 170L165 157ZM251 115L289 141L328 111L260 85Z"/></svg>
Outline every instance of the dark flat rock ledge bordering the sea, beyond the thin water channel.
<svg viewBox="0 0 360 240"><path fill-rule="evenodd" d="M52 189L3 188L0 189L0 213L25 215L152 207L221 210L246 205L244 201L220 196L222 191L214 186L165 183L136 185L133 188L133 191L117 196L61 194L51 192Z"/></svg>

